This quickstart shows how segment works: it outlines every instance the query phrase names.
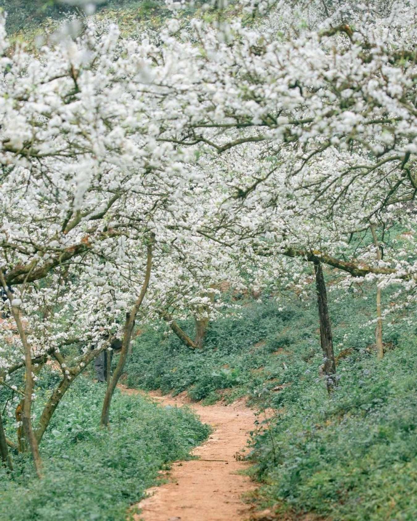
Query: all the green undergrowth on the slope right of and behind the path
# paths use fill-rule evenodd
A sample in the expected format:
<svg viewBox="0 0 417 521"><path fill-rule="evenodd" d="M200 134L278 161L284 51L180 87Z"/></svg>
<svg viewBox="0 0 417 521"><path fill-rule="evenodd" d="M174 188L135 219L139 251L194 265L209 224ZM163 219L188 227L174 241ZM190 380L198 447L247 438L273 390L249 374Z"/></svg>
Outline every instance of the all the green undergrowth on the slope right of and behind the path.
<svg viewBox="0 0 417 521"><path fill-rule="evenodd" d="M363 288L364 289L364 288ZM339 386L328 398L317 309L289 298L246 301L241 317L210 327L206 347L193 352L163 328L136 339L130 386L187 390L210 403L248 394L272 407L270 430L254 435L252 475L263 485L261 507L279 515L311 513L337 520L417 518L417 342L415 309L384 322L386 354L374 350L374 288L368 299L330 292ZM385 292L384 306L393 298ZM408 317L408 319L407 319ZM184 329L193 334L192 323Z"/></svg>

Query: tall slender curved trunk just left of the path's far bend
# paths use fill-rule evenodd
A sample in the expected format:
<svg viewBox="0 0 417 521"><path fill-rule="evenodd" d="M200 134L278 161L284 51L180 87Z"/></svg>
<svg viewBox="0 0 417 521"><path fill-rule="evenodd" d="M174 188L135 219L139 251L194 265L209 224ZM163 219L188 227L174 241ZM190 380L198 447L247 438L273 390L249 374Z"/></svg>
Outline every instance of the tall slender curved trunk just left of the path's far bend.
<svg viewBox="0 0 417 521"><path fill-rule="evenodd" d="M132 338L132 331L135 324L135 318L139 308L142 305L143 299L145 297L146 291L149 286L150 279L150 271L152 268L152 257L153 257L153 246L154 246L154 237L152 237L147 245L147 261L146 261L146 273L145 280L143 282L142 290L140 295L138 296L135 305L132 308L131 313L127 314L126 322L124 325L124 334L123 334L123 342L122 349L120 351L119 361L117 363L115 372L109 382L109 385L106 390L106 395L104 396L103 401L103 409L102 409L102 417L100 418L100 425L102 427L107 427L109 424L109 412L110 412L110 403L113 393L115 392L117 382L122 374L124 364L126 362L126 358L128 357L129 345Z"/></svg>

